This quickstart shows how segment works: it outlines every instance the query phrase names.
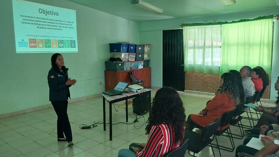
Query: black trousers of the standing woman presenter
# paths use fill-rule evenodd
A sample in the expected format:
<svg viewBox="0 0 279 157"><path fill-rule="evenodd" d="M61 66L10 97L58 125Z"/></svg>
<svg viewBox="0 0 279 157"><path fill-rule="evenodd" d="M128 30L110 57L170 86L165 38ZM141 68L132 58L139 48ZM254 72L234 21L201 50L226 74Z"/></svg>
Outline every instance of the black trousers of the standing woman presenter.
<svg viewBox="0 0 279 157"><path fill-rule="evenodd" d="M67 138L67 141L72 141L72 130L67 114L68 101L51 101L51 104L58 117L57 138L64 138L64 133Z"/></svg>

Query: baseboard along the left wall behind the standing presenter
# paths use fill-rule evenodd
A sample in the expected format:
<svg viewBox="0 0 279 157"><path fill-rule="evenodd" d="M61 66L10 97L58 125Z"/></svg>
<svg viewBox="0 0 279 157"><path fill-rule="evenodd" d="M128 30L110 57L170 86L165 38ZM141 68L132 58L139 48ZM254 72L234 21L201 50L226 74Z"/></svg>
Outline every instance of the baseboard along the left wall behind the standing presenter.
<svg viewBox="0 0 279 157"><path fill-rule="evenodd" d="M102 96L102 93L88 95L88 96L74 98L74 99L69 99L69 103L76 102L76 101L82 101L82 100L86 100L86 99L91 99L91 98L95 98L95 97L100 97L100 96ZM52 107L52 105L47 104L47 105L37 106L37 107L33 107L33 108L27 108L27 109L24 109L24 110L19 110L19 111L15 111L15 112L11 112L11 113L4 113L4 114L0 115L0 119L10 117L10 116L20 115L20 114L23 114L23 113L42 110L42 109L50 108L50 107Z"/></svg>

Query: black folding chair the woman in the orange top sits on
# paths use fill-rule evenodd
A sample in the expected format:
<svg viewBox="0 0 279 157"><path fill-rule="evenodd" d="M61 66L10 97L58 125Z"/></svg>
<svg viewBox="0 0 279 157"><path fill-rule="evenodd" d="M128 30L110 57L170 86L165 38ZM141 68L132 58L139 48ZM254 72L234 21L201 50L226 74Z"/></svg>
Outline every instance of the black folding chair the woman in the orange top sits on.
<svg viewBox="0 0 279 157"><path fill-rule="evenodd" d="M221 157L221 151L220 149L223 149L223 150L226 150L226 151L234 151L235 149L235 144L233 142L233 138L232 138L232 132L230 131L230 126L227 127L226 129L223 129L224 126L230 124L230 121L232 120L232 117L235 115L235 111L236 111L237 107L235 107L233 110L231 111L228 111L226 113L223 114L223 116L221 117L221 121L220 121L220 126L221 126L221 129L220 130L217 130L215 132L215 135L216 136L220 136L222 135L223 133L225 133L227 131L228 133L228 137L230 138L230 143L232 145L232 148L229 148L229 147L224 147L224 146L219 146L218 144L218 141L217 141L217 137L215 137L215 140L216 140L216 144L212 144L213 147L215 148L218 148L219 150L219 153L220 153L220 157ZM222 130L223 129L223 130ZM230 131L230 132L229 132Z"/></svg>

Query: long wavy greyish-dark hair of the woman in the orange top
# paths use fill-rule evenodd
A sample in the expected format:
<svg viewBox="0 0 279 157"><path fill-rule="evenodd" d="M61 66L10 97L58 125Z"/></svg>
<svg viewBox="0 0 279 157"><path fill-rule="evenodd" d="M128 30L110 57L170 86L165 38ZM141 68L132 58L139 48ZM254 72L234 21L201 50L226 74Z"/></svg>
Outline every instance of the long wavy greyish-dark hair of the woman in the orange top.
<svg viewBox="0 0 279 157"><path fill-rule="evenodd" d="M239 90L235 74L226 72L221 76L221 78L224 80L224 83L219 92L223 95L225 92L228 92L230 100L232 99L236 104L239 104Z"/></svg>

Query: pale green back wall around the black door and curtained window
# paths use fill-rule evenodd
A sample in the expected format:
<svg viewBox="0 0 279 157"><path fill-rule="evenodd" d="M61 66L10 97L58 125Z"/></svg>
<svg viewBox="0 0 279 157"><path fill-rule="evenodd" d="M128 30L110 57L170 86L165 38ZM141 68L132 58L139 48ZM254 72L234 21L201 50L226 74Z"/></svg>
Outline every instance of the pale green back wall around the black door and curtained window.
<svg viewBox="0 0 279 157"><path fill-rule="evenodd" d="M181 29L183 23L207 23L218 21L238 21L240 19L253 19L259 16L265 15L277 15L279 8L270 8L262 10L253 10L239 13L230 13L213 16L192 17L183 19L171 19L157 22L145 22L139 24L140 43L151 43L151 85L162 87L162 31ZM276 82L277 76L279 76L279 23L275 21L274 24L274 48L273 48L273 62L272 62L272 80L271 83ZM160 42L157 42L159 41ZM159 66L160 65L160 66ZM156 78L156 79L155 79ZM277 92L271 85L271 99L275 99Z"/></svg>

